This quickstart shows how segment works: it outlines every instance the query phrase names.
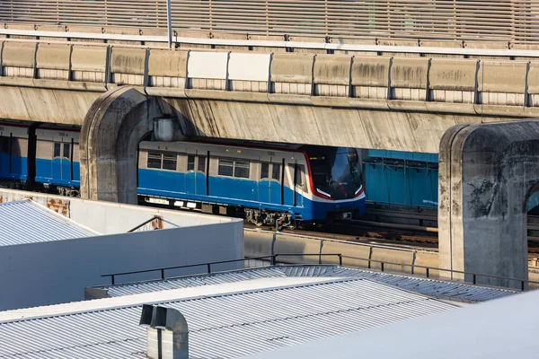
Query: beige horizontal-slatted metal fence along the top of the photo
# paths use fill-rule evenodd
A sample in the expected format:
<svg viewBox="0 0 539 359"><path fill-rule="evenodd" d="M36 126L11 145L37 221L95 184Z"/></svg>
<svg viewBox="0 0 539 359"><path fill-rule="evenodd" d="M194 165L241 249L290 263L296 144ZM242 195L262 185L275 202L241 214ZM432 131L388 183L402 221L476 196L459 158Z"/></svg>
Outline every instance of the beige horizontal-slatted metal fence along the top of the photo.
<svg viewBox="0 0 539 359"><path fill-rule="evenodd" d="M166 1L0 0L0 22L166 28ZM539 42L539 0L172 0L181 31Z"/></svg>

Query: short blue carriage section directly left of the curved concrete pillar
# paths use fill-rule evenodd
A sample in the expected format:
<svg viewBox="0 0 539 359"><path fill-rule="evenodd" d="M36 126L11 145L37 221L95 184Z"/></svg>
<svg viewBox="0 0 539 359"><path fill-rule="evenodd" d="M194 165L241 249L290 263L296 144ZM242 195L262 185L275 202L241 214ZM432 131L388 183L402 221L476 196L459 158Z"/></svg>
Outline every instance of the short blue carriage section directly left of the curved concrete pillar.
<svg viewBox="0 0 539 359"><path fill-rule="evenodd" d="M36 182L56 189L61 195L78 196L79 136L76 129L36 129Z"/></svg>

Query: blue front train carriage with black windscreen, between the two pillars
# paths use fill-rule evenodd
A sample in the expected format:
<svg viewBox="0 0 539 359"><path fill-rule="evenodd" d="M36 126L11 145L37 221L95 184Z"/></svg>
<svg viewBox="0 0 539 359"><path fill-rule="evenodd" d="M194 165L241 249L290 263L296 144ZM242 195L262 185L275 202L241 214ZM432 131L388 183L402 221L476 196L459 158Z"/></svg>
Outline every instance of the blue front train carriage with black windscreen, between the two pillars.
<svg viewBox="0 0 539 359"><path fill-rule="evenodd" d="M239 210L258 225L280 219L294 226L296 221L322 221L334 214L361 215L361 163L350 167L349 151L143 142L138 194L148 203L207 213Z"/></svg>

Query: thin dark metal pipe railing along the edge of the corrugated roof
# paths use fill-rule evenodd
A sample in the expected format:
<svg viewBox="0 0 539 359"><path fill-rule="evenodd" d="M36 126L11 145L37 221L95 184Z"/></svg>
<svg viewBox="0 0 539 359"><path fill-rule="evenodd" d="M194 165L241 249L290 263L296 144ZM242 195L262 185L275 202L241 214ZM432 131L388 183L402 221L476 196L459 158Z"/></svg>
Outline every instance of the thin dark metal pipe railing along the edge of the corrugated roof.
<svg viewBox="0 0 539 359"><path fill-rule="evenodd" d="M276 266L278 257L297 257L298 255L300 255L300 254L298 254L298 253L277 253L277 254L273 254L273 255L270 255L270 256L261 256L261 257L255 257L255 258L220 260L220 261L216 261L216 262L199 263L199 264L193 264L193 265L187 265L187 266L161 267L161 268L143 269L143 270L130 271L130 272L120 272L120 273L102 275L102 277L107 277L107 276L110 277L110 285L116 285L116 276L128 276L128 275L134 275L134 274L140 274L140 273L160 272L161 273L160 279L164 280L164 279L166 279L166 276L165 276L165 273L164 273L165 270L192 268L192 267L207 267L206 274L211 274L212 273L211 266L215 266L215 265L218 265L218 264L244 262L245 260L270 259L270 266ZM473 273L473 272L465 272L465 271L460 271L460 270L445 269L445 268L440 268L440 267L403 265L402 263L394 263L394 262L376 260L376 259L371 259L371 258L351 257L351 256L342 255L341 253L323 253L323 254L320 254L320 253L308 253L308 254L301 254L301 256L315 256L315 257L320 258L319 263L317 265L311 265L311 266L321 266L321 265L323 265L322 258L331 256L331 257L339 258L339 266L340 267L342 267L342 258L354 258L354 259L359 259L359 260L366 260L368 262L367 269L369 269L369 270L373 270L372 263L379 264L380 272L382 272L382 273L384 273L384 268L386 266L408 266L408 267L411 267L411 275L415 275L415 276L417 276L417 274L415 272L416 268L425 269L425 275L424 276L426 278L432 278L432 276L430 275L432 271L438 271L438 273L442 272L442 273L450 274L451 280L453 280L454 275L463 275L464 278L465 278L465 276L471 276L472 280L469 281L469 282L466 282L464 280L464 283L468 283L468 284L471 283L472 285L478 285L478 281L477 281L478 278L500 279L500 280L504 280L504 281L517 282L520 285L520 290L523 291L523 292L526 290L526 284L527 285L529 285L529 284L539 285L539 282L530 281L530 280L527 280L527 279L512 278L512 277L508 277L508 276L482 275L482 274L477 274L477 273ZM296 264L296 265L305 266L305 264ZM218 272L213 272L213 273L218 273ZM170 278L173 278L173 277L169 277L169 279ZM440 279L440 278L442 280L444 280L444 279L449 280L449 278L445 278L444 276L438 276L438 279ZM486 286L489 286L489 285L486 285Z"/></svg>

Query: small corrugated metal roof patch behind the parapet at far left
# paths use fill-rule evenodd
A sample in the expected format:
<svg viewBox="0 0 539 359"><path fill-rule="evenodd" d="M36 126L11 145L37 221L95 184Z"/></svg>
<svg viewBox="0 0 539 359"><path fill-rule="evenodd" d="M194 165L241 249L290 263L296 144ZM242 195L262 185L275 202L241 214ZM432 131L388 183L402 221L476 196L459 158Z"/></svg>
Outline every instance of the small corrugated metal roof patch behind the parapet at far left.
<svg viewBox="0 0 539 359"><path fill-rule="evenodd" d="M0 204L0 246L69 240L96 234L28 199Z"/></svg>

